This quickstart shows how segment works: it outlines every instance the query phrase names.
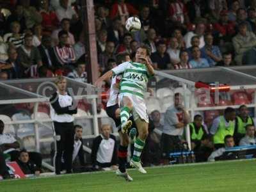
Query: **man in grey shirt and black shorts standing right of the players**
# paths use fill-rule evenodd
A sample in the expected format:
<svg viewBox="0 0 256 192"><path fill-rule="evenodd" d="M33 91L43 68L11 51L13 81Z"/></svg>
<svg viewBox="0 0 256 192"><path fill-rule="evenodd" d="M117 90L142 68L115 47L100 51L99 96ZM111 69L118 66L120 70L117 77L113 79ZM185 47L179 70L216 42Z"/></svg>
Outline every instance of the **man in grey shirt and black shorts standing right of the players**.
<svg viewBox="0 0 256 192"><path fill-rule="evenodd" d="M174 106L170 106L164 114L164 127L161 137L161 148L164 160L169 159L170 152L180 150L180 138L184 127L189 123L189 115L182 106L182 95L175 93ZM166 163L166 162L165 162Z"/></svg>

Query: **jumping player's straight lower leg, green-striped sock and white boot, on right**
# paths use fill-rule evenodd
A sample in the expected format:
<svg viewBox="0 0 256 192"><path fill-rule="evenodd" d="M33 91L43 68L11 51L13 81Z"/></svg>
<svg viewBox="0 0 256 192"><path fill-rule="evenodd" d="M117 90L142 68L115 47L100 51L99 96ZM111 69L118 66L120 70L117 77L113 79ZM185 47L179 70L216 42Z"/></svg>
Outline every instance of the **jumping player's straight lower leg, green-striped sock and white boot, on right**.
<svg viewBox="0 0 256 192"><path fill-rule="evenodd" d="M134 143L134 152L130 164L131 166L137 168L139 172L147 173L146 170L141 165L140 156L145 146L145 140L147 139L148 136L148 123L144 120L141 120L140 118L135 120L135 122L138 128L139 136L138 138L136 138L136 141Z"/></svg>

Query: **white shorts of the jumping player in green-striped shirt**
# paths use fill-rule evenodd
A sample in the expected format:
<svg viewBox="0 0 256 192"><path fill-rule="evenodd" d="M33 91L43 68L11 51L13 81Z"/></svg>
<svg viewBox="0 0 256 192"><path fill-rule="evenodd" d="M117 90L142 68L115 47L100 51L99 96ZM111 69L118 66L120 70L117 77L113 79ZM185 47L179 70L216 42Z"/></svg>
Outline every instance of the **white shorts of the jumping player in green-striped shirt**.
<svg viewBox="0 0 256 192"><path fill-rule="evenodd" d="M137 120L138 118L141 118L148 123L149 121L148 121L147 107L145 104L145 100L140 97L136 97L135 95L131 95L129 93L120 93L118 95L118 104L120 107L122 107L122 99L124 96L129 97L129 99L132 102L132 106L133 106L132 116L134 121Z"/></svg>

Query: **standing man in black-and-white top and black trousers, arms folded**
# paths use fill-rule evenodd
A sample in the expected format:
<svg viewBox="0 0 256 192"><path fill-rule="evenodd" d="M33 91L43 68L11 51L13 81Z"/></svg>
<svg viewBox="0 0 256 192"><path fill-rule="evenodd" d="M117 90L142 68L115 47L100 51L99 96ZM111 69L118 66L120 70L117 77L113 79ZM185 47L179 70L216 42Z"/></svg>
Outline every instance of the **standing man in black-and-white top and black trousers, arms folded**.
<svg viewBox="0 0 256 192"><path fill-rule="evenodd" d="M74 116L77 113L77 106L74 99L67 93L67 80L58 76L56 81L58 92L52 94L51 119L56 134L54 167L56 175L60 175L61 157L65 152L64 162L67 173L72 173L72 154L74 150Z"/></svg>

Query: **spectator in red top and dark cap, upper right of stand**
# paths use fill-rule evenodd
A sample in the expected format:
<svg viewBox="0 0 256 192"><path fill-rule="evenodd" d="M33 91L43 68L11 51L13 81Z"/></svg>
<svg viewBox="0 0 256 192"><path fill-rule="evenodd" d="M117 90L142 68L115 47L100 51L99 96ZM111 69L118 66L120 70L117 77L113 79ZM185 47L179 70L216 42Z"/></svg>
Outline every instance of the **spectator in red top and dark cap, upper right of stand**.
<svg viewBox="0 0 256 192"><path fill-rule="evenodd" d="M218 32L218 39L225 42L231 42L232 37L236 34L235 23L228 20L228 11L220 12L220 20L213 24L214 31Z"/></svg>

